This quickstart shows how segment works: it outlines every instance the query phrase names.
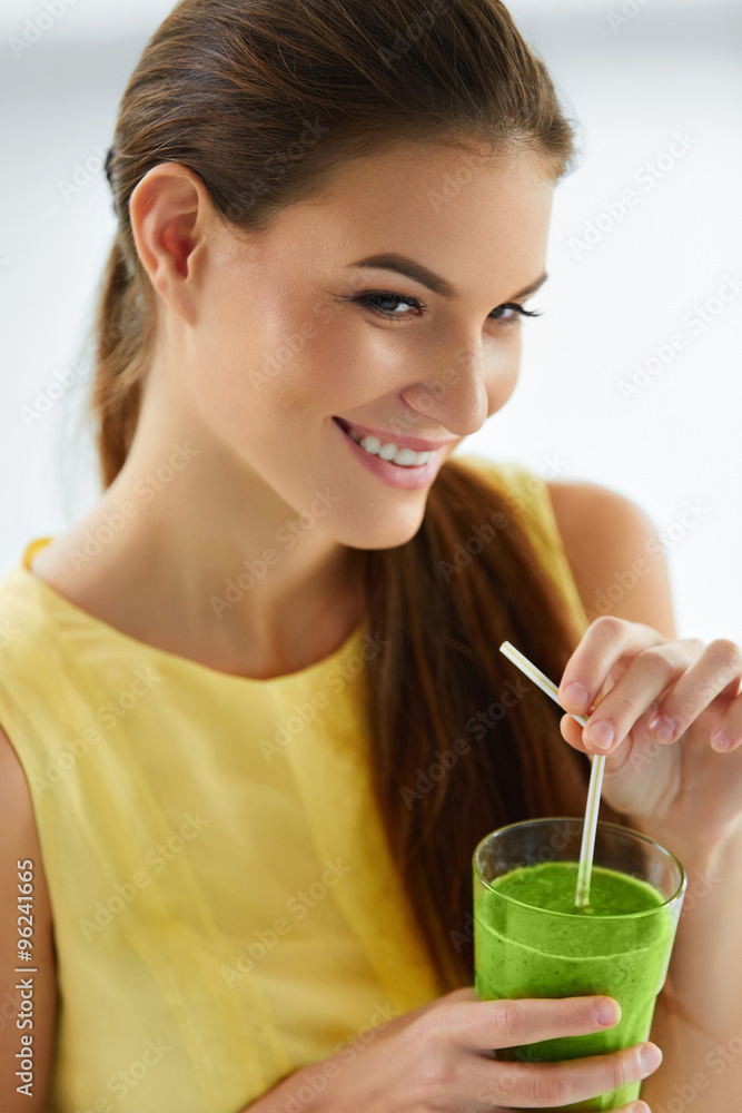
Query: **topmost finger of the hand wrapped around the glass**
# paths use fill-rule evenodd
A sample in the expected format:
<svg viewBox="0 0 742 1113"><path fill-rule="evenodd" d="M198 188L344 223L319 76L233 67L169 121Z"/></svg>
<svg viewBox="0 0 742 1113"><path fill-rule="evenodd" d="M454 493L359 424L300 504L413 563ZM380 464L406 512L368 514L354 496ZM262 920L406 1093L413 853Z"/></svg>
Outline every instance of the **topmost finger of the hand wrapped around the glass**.
<svg viewBox="0 0 742 1113"><path fill-rule="evenodd" d="M458 1001L446 1014L444 1023L454 1043L474 1051L494 1051L613 1027L621 1020L621 1006L612 997L602 996L524 997Z"/></svg>

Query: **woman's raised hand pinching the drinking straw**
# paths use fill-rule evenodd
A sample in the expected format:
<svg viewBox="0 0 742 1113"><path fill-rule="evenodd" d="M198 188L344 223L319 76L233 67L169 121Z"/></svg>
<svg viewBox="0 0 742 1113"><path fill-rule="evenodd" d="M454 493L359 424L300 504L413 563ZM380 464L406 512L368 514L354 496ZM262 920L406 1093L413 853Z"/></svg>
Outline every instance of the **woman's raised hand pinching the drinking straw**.
<svg viewBox="0 0 742 1113"><path fill-rule="evenodd" d="M732 641L670 641L604 615L583 634L560 684L562 706L587 723L565 715L562 735L576 749L607 755L603 795L612 808L675 845L713 848L742 818L741 678L742 651Z"/></svg>

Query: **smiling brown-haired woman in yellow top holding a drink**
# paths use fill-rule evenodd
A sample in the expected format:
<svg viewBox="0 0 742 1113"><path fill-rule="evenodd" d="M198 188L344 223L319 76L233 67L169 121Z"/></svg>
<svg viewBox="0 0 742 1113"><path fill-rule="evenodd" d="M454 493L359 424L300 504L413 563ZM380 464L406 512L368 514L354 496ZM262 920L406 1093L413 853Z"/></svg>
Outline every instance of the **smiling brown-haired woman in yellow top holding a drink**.
<svg viewBox="0 0 742 1113"><path fill-rule="evenodd" d="M451 459L515 388L572 154L497 0L182 0L148 43L107 161L105 490L0 591L3 1109L553 1109L644 1077L736 1109L740 650L675 638L659 563L587 621L644 552L633 503ZM584 731L505 638L598 705ZM605 817L708 889L664 1063L496 1062L617 1018L472 988L475 844L580 814L595 752Z"/></svg>

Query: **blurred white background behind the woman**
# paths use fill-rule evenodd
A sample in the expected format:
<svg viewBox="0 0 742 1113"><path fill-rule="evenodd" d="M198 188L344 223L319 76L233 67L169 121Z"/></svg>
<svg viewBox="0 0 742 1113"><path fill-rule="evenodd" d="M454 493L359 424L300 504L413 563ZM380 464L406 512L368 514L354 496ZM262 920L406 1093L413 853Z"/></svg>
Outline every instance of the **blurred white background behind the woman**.
<svg viewBox="0 0 742 1113"><path fill-rule="evenodd" d="M102 164L171 7L0 8L0 575L100 493L82 403L116 228ZM742 641L742 4L509 8L583 154L555 194L517 390L458 451L637 502L670 554L679 634Z"/></svg>

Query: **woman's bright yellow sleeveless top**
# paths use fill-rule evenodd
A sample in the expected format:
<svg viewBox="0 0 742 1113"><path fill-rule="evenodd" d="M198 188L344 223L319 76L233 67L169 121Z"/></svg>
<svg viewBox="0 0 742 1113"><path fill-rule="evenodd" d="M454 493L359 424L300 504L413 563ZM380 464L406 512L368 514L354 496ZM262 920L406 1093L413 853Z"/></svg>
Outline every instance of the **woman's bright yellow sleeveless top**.
<svg viewBox="0 0 742 1113"><path fill-rule="evenodd" d="M456 456L514 496L580 629L544 481ZM30 562L0 582L0 725L26 772L60 1013L49 1113L236 1113L443 991L367 775L357 628L267 680L80 610ZM360 1046L360 1044L358 1044Z"/></svg>

